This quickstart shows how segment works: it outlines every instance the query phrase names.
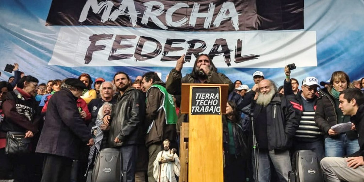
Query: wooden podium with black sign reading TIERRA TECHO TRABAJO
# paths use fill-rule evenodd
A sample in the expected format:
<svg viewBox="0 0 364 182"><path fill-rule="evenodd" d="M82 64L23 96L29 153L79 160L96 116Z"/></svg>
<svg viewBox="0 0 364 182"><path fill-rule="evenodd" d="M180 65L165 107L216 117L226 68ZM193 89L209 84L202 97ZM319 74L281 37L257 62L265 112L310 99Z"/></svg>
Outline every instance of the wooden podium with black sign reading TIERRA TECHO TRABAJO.
<svg viewBox="0 0 364 182"><path fill-rule="evenodd" d="M223 182L222 114L229 84L182 83L179 182Z"/></svg>

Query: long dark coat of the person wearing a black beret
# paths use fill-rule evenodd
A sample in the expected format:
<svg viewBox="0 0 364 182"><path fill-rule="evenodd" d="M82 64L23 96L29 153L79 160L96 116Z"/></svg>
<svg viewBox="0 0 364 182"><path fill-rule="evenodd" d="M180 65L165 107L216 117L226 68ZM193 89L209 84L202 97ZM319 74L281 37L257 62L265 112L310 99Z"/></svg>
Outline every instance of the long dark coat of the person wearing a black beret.
<svg viewBox="0 0 364 182"><path fill-rule="evenodd" d="M50 101L36 152L77 159L81 144L92 138L72 92L62 88Z"/></svg>

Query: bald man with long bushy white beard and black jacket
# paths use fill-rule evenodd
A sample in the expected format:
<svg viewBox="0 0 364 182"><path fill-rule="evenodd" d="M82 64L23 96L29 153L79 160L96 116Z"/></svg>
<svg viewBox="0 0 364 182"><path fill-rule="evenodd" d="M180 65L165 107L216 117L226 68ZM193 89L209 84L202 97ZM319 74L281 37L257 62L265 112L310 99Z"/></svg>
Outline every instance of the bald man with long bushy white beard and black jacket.
<svg viewBox="0 0 364 182"><path fill-rule="evenodd" d="M258 83L258 99L252 103L255 137L259 149L259 182L270 182L270 162L280 182L288 181L291 160L288 149L298 129L298 115L291 101L294 97L276 94L276 86L269 80ZM297 101L295 101L297 102ZM273 167L272 166L272 167Z"/></svg>

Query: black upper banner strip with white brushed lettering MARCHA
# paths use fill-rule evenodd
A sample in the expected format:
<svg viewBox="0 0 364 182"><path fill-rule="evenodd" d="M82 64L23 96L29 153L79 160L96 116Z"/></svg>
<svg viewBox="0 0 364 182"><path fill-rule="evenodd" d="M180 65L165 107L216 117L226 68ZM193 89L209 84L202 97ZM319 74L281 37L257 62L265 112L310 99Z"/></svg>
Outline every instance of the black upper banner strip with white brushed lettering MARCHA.
<svg viewBox="0 0 364 182"><path fill-rule="evenodd" d="M304 0L53 0L46 25L180 32L303 29Z"/></svg>

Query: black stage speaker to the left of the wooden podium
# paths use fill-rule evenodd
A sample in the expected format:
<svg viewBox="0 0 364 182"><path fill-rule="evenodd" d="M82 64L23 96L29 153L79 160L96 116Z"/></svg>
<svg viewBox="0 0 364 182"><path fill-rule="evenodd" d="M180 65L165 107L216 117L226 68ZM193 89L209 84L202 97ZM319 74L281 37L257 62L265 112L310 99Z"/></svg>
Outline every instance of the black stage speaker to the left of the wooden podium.
<svg viewBox="0 0 364 182"><path fill-rule="evenodd" d="M120 150L102 149L96 157L92 174L88 172L87 182L120 182L123 176L121 164Z"/></svg>

